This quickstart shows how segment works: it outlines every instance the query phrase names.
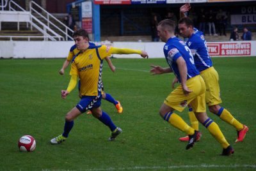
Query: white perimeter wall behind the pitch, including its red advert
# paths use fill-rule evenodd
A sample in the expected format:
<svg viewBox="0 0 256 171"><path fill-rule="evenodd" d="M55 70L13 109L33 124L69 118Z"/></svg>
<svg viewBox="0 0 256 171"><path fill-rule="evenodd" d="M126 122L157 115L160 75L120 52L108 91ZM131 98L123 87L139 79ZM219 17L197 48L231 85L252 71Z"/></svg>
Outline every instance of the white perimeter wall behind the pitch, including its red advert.
<svg viewBox="0 0 256 171"><path fill-rule="evenodd" d="M104 43L104 42L101 42ZM100 43L97 43L100 44ZM65 58L74 41L0 41L0 57ZM108 43L108 45L111 45ZM207 43L210 56L256 56L256 41L218 41ZM163 42L113 42L114 47L145 50L150 58L161 58ZM118 58L140 58L139 55L114 55Z"/></svg>

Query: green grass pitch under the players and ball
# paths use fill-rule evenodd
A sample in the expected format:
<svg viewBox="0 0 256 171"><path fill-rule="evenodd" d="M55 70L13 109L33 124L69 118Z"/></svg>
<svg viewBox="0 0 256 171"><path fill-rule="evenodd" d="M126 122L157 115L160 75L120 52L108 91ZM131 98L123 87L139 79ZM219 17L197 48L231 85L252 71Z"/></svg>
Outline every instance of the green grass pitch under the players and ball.
<svg viewBox="0 0 256 171"><path fill-rule="evenodd" d="M219 124L235 154L223 157L220 144L200 125L203 136L193 149L178 138L184 133L158 114L172 91L173 74L150 75L150 64L164 59L112 59L116 72L104 63L106 93L120 100L123 114L102 100L102 109L124 131L109 142L109 129L92 115L75 120L67 141L49 140L63 131L65 114L77 104L77 89L61 99L70 76L58 74L64 59L0 60L0 170L256 170L256 57L213 58L220 75L222 106L250 130L234 144L236 130L208 112ZM188 120L188 110L179 113ZM34 152L19 152L22 135L36 140Z"/></svg>

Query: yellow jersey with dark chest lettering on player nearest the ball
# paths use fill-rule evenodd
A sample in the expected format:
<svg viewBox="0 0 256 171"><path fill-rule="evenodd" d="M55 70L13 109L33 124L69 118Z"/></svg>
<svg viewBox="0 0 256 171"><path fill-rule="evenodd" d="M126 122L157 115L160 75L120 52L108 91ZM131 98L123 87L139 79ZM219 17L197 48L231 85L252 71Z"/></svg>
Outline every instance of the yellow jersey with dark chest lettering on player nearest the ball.
<svg viewBox="0 0 256 171"><path fill-rule="evenodd" d="M82 96L98 96L101 93L102 60L112 54L113 47L90 45L72 59L70 75L80 78Z"/></svg>

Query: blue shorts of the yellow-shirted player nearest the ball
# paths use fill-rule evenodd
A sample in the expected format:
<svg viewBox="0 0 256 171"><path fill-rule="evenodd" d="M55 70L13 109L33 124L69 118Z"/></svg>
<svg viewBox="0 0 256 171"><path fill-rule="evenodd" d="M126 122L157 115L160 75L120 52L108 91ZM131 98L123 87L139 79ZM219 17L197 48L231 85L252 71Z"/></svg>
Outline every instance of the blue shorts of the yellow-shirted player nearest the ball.
<svg viewBox="0 0 256 171"><path fill-rule="evenodd" d="M84 113L91 108L100 107L101 99L101 94L100 96L82 96L79 103L77 103L76 108L78 108L81 113Z"/></svg>

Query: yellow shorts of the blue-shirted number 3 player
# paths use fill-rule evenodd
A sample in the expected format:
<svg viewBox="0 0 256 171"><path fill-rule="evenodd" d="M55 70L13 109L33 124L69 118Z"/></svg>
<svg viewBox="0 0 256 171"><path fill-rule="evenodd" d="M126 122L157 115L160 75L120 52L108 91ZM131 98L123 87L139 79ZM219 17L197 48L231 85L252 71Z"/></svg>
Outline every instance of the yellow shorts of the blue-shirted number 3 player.
<svg viewBox="0 0 256 171"><path fill-rule="evenodd" d="M200 75L187 80L186 85L191 93L188 96L182 91L181 85L172 91L164 100L164 104L182 112L190 104L194 112L206 112L205 107L205 84Z"/></svg>

